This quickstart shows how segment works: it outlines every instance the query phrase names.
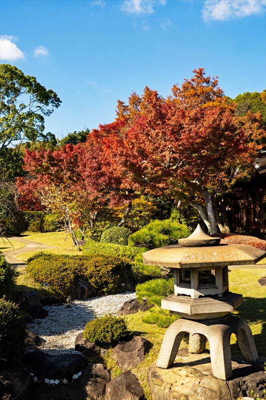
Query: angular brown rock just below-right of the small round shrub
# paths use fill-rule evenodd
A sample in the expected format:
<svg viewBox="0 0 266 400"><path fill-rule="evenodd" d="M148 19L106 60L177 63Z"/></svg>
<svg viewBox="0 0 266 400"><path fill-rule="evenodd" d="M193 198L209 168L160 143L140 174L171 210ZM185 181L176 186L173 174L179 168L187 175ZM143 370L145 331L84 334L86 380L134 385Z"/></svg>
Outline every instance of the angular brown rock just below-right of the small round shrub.
<svg viewBox="0 0 266 400"><path fill-rule="evenodd" d="M141 336L133 336L133 339L117 344L113 349L113 359L118 362L124 372L135 368L139 362L145 359L144 353L149 340Z"/></svg>

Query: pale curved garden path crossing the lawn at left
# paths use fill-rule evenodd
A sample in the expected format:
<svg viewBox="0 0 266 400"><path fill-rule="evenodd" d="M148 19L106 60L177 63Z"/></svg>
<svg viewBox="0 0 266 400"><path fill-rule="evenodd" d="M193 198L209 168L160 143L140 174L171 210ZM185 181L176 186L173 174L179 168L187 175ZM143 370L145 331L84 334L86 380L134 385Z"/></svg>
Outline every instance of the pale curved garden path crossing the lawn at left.
<svg viewBox="0 0 266 400"><path fill-rule="evenodd" d="M20 241L25 245L23 247L17 248L16 250L9 250L2 252L6 261L10 262L10 264L16 265L18 268L24 268L26 266L23 260L19 260L16 258L17 255L26 253L29 251L41 251L46 248L55 248L53 246L47 246L46 244L40 243L38 241L26 240L20 236L12 236L8 237L9 240Z"/></svg>

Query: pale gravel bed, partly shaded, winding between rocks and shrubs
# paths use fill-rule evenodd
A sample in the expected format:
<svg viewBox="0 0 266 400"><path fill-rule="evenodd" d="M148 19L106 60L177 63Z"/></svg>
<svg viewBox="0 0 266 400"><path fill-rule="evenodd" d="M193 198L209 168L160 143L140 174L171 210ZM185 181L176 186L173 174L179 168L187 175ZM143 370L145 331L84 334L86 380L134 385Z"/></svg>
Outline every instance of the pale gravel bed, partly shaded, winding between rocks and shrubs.
<svg viewBox="0 0 266 400"><path fill-rule="evenodd" d="M134 292L74 300L69 304L46 305L48 311L44 319L35 319L28 329L37 334L42 344L40 350L49 354L77 353L75 338L84 330L86 323L105 314L116 314L125 301L136 297ZM34 347L32 347L32 350Z"/></svg>

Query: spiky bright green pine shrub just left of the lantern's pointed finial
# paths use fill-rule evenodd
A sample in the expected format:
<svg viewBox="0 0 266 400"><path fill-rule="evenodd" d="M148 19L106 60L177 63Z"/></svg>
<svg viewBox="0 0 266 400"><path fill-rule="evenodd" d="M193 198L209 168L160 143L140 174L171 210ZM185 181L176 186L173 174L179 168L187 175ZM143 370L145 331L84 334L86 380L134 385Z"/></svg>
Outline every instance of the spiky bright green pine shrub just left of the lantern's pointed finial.
<svg viewBox="0 0 266 400"><path fill-rule="evenodd" d="M148 249L175 244L181 237L190 235L188 226L171 219L159 220L149 223L144 228L131 234L128 244L137 247L147 247Z"/></svg>

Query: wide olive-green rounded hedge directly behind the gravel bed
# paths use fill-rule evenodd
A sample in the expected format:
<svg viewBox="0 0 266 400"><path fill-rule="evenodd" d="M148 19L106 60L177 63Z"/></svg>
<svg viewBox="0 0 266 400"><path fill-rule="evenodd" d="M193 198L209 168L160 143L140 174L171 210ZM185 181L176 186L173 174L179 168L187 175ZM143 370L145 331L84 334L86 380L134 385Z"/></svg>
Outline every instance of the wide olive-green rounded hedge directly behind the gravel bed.
<svg viewBox="0 0 266 400"><path fill-rule="evenodd" d="M96 254L66 255L39 252L27 260L29 276L63 295L70 292L77 278L86 279L102 294L116 294L125 281L128 259Z"/></svg>

